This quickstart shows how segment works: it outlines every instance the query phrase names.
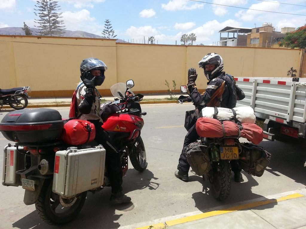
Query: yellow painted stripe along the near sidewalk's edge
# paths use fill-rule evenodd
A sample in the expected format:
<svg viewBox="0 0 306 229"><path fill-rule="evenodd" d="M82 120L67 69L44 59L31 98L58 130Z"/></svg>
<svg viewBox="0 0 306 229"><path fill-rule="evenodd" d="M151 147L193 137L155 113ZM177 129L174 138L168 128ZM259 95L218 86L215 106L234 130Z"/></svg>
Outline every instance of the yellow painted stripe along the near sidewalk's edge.
<svg viewBox="0 0 306 229"><path fill-rule="evenodd" d="M176 219L176 220L169 220L169 221L166 221L165 223L168 226L174 226L174 225L177 225L177 224L183 224L183 223L191 222L191 221L194 221L194 220L200 220L200 219L204 219L204 218L211 217L211 216L222 215L222 214L226 214L226 213L230 213L230 212L235 212L235 211L248 209L248 208L254 208L254 207L261 206L261 205L271 204L271 203L280 202L280 201L283 201L283 200L294 199L294 198L303 197L303 196L304 195L302 195L302 194L295 193L295 194L287 195L287 196L284 196L284 197L281 197L281 198L278 198L278 199L267 199L267 200L258 201L258 202L254 202L254 203L243 204L243 205L234 206L234 207L227 208L227 209L221 209L221 210L218 210L218 211L201 213L201 214L197 214L197 215L194 215L194 216L187 216L187 217L183 217L181 219ZM163 223L159 223L159 224L149 225L149 226L146 226L146 227L139 227L137 229L148 229L150 226L158 228L158 227L164 227L165 225Z"/></svg>

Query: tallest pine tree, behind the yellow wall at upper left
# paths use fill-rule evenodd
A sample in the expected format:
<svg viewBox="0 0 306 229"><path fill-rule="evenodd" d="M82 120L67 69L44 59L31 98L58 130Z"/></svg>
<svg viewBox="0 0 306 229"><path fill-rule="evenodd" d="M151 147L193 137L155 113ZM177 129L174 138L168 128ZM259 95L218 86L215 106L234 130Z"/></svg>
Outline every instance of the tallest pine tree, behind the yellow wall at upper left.
<svg viewBox="0 0 306 229"><path fill-rule="evenodd" d="M43 36L61 36L64 33L64 21L60 20L62 13L57 13L60 10L57 4L58 2L53 0L40 0L36 1L35 7L37 12L34 12L39 19L35 19L35 22L39 24L35 26L39 28L39 34Z"/></svg>

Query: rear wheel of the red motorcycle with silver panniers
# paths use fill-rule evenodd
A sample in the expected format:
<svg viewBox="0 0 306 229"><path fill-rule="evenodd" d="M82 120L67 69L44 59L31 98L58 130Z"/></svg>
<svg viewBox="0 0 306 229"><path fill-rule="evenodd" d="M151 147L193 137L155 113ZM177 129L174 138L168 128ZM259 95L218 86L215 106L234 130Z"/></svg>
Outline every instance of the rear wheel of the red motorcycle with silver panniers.
<svg viewBox="0 0 306 229"><path fill-rule="evenodd" d="M39 198L35 203L39 217L47 224L65 224L73 220L82 209L87 192L70 199L52 192L52 180L45 180Z"/></svg>

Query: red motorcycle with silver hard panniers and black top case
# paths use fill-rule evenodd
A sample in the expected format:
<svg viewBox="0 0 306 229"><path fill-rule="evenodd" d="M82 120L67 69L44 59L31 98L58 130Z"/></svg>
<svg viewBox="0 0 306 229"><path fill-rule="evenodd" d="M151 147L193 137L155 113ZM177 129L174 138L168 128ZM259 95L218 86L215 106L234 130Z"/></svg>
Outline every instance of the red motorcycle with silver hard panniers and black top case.
<svg viewBox="0 0 306 229"><path fill-rule="evenodd" d="M122 86L124 88L122 88ZM128 156L138 171L147 167L144 125L139 101L127 84L112 87L115 103L101 105L103 128L111 147L121 154L123 175ZM105 149L92 141L94 125L88 121L62 120L58 111L46 108L9 112L0 123L3 136L14 141L4 148L2 184L22 186L24 203L35 208L48 224L65 224L82 209L87 191L95 193L109 186Z"/></svg>

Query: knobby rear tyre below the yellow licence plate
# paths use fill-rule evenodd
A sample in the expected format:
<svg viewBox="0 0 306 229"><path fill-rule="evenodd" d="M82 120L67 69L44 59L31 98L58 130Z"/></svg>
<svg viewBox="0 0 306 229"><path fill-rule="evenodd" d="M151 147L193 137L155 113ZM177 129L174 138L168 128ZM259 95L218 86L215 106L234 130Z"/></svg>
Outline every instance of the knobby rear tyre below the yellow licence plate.
<svg viewBox="0 0 306 229"><path fill-rule="evenodd" d="M212 163L212 168L207 174L211 183L211 191L217 200L225 200L230 195L231 166L227 160Z"/></svg>

